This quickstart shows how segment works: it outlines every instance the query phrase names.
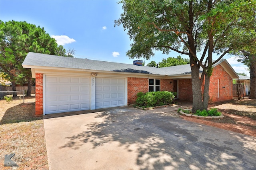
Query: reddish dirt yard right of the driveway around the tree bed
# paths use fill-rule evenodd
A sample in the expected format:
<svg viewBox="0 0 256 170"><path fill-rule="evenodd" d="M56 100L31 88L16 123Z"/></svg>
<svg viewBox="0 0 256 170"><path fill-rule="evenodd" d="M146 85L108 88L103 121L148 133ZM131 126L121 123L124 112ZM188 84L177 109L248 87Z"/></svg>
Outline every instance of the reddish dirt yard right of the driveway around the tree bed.
<svg viewBox="0 0 256 170"><path fill-rule="evenodd" d="M182 116L183 119L226 129L256 137L256 100L244 98L243 100L229 100L209 104L217 108L224 115L223 119L194 119Z"/></svg>

